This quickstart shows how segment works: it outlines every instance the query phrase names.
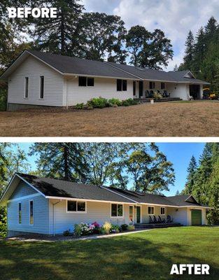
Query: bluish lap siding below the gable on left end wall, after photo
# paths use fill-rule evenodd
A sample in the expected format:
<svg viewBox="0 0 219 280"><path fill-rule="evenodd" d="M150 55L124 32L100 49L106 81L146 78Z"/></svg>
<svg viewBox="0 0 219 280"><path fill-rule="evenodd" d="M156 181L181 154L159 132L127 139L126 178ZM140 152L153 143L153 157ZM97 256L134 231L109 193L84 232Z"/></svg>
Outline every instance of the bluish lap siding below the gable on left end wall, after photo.
<svg viewBox="0 0 219 280"><path fill-rule="evenodd" d="M34 225L29 225L29 200L34 200ZM20 200L22 224L18 223L18 203L8 202L8 230L48 234L48 200L43 196Z"/></svg>

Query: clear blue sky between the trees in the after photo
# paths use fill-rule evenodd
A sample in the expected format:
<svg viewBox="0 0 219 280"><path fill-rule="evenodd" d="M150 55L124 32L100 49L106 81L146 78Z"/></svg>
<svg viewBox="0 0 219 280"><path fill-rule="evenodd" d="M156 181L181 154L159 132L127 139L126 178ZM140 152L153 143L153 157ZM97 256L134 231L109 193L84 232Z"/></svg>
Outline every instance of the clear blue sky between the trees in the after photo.
<svg viewBox="0 0 219 280"><path fill-rule="evenodd" d="M26 153L29 152L31 144L21 143L18 145ZM167 159L174 164L176 173L174 186L170 186L170 191L164 192L164 195L175 195L177 190L183 190L190 158L194 155L198 162L204 148L204 143L157 143L157 146L159 146L160 151L167 155ZM31 170L36 169L36 159L36 156L28 157Z"/></svg>

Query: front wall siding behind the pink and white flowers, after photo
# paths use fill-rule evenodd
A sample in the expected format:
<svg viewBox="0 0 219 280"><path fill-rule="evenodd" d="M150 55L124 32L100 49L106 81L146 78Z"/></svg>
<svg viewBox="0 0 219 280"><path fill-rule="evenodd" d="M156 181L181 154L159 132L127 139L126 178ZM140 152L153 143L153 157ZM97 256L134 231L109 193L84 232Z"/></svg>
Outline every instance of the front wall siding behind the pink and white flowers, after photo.
<svg viewBox="0 0 219 280"><path fill-rule="evenodd" d="M52 203L50 200L50 234L53 233ZM114 225L129 223L129 205L124 205L124 218L111 218L110 202L87 202L87 213L66 213L66 201L62 200L55 205L55 233L62 234L64 230L73 231L73 225L78 223L93 223L97 221L101 225L106 221Z"/></svg>

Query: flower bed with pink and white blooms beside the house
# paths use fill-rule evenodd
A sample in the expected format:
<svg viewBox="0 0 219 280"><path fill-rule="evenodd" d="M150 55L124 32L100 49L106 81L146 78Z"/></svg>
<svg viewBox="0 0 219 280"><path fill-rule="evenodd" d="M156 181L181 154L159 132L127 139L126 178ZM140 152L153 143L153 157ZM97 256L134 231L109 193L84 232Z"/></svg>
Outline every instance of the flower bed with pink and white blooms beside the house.
<svg viewBox="0 0 219 280"><path fill-rule="evenodd" d="M74 225L73 235L75 237L82 237L86 235L110 235L112 233L119 233L125 231L135 230L134 225L113 225L109 222L105 222L104 225L100 225L97 222L94 223L80 223ZM71 235L70 230L63 232L64 236Z"/></svg>

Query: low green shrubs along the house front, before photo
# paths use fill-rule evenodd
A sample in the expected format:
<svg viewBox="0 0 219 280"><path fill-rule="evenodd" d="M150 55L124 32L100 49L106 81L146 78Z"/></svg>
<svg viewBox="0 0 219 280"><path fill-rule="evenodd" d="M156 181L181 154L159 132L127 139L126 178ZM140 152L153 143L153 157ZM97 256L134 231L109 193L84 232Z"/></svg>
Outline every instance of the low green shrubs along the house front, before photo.
<svg viewBox="0 0 219 280"><path fill-rule="evenodd" d="M106 107L131 106L137 104L139 104L139 102L132 98L120 101L119 99L116 98L105 99L103 97L97 97L97 98L90 99L89 101L87 101L86 104L83 103L76 104L76 109L92 110L94 108L103 109Z"/></svg>

